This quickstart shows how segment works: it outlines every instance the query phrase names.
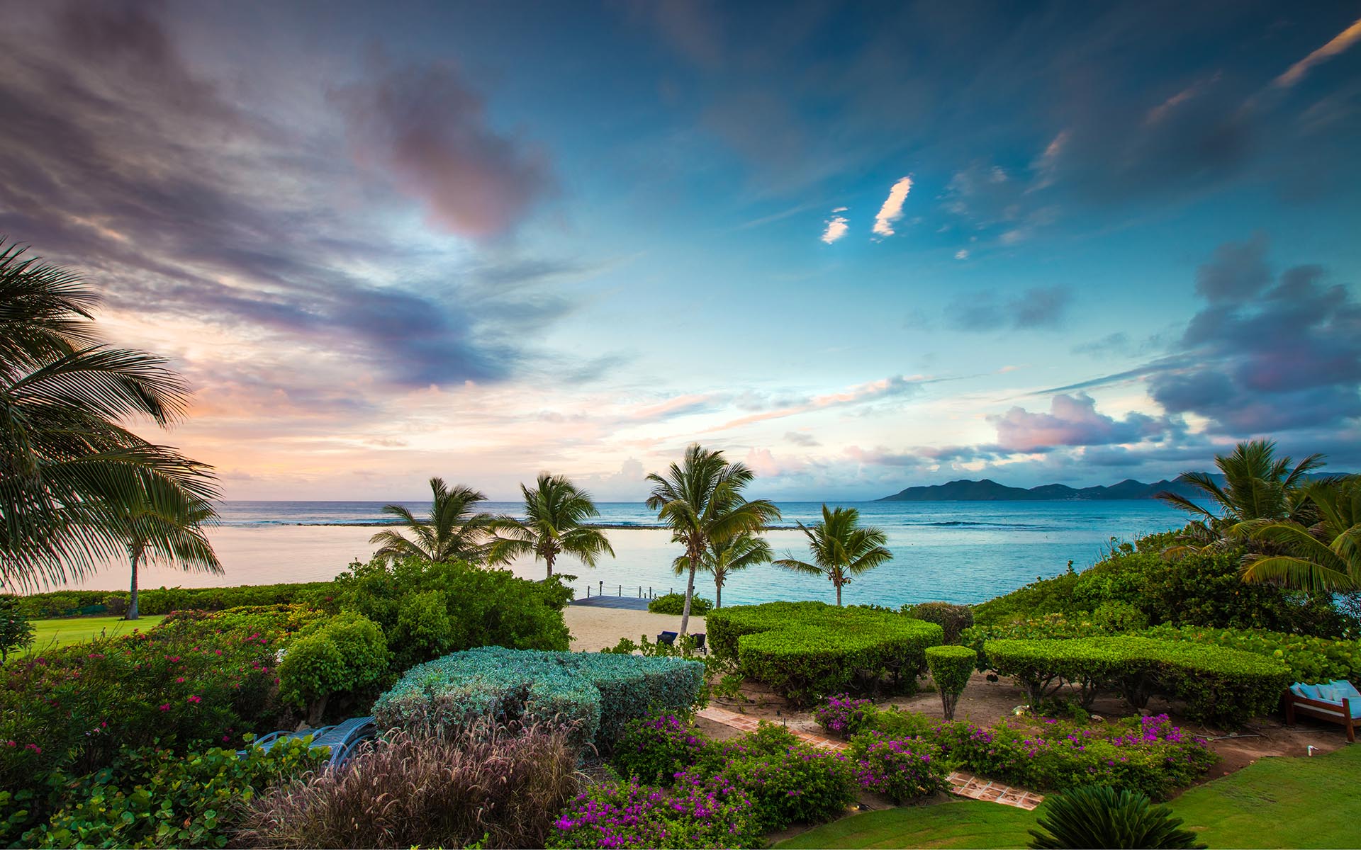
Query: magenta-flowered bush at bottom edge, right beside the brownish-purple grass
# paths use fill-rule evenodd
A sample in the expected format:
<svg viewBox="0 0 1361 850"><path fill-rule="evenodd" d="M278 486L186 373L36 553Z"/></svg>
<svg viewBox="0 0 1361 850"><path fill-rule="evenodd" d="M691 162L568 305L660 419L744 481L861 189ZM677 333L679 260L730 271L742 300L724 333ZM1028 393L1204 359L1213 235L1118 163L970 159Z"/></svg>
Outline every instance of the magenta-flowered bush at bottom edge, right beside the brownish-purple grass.
<svg viewBox="0 0 1361 850"><path fill-rule="evenodd" d="M755 802L725 777L680 774L671 789L608 783L580 794L548 847L759 847Z"/></svg>

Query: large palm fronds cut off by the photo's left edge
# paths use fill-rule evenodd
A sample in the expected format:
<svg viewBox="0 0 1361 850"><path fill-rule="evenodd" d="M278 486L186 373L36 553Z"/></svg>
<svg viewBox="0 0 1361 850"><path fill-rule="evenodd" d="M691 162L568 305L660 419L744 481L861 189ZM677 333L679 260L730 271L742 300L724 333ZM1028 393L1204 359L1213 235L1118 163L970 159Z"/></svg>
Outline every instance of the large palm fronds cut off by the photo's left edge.
<svg viewBox="0 0 1361 850"><path fill-rule="evenodd" d="M98 296L0 239L0 583L64 583L118 555L147 481L218 495L212 468L121 423L167 427L189 389L167 360L98 343Z"/></svg>

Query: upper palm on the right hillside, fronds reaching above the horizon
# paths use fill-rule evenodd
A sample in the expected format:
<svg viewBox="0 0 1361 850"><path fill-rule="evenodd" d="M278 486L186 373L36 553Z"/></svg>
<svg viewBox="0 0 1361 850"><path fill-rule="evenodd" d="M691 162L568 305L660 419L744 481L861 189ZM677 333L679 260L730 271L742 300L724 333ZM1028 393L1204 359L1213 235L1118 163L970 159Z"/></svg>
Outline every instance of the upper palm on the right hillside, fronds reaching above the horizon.
<svg viewBox="0 0 1361 850"><path fill-rule="evenodd" d="M1192 515L1183 533L1184 545L1169 554L1224 545L1233 540L1229 533L1241 522L1253 520L1298 522L1308 511L1302 487L1308 473L1324 465L1322 454L1311 454L1294 468L1289 457L1275 456L1275 441L1255 439L1239 443L1233 454L1217 454L1225 483L1221 487L1204 472L1184 472L1181 480L1204 494L1219 513L1196 505L1175 492L1160 492L1158 498Z"/></svg>

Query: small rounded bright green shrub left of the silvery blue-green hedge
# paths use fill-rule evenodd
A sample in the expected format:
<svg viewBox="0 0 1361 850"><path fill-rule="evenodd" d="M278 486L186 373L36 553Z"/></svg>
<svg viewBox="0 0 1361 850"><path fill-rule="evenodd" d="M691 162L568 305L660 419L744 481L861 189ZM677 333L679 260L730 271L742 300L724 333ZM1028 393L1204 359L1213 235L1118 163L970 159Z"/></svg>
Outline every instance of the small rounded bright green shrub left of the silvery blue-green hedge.
<svg viewBox="0 0 1361 850"><path fill-rule="evenodd" d="M320 724L332 696L362 692L387 679L388 660L377 623L339 613L304 628L289 645L279 664L279 695Z"/></svg>

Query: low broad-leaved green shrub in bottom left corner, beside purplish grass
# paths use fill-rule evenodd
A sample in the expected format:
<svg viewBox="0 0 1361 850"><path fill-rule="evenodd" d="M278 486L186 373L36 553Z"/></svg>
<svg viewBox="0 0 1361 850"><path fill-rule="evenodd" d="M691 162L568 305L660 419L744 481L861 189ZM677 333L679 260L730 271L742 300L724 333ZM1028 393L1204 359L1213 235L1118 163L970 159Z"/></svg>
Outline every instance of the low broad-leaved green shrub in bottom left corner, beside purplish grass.
<svg viewBox="0 0 1361 850"><path fill-rule="evenodd" d="M60 785L61 806L23 836L30 847L226 847L245 806L317 767L325 749L299 740L176 753L118 749L108 767ZM56 778L53 778L56 779Z"/></svg>

